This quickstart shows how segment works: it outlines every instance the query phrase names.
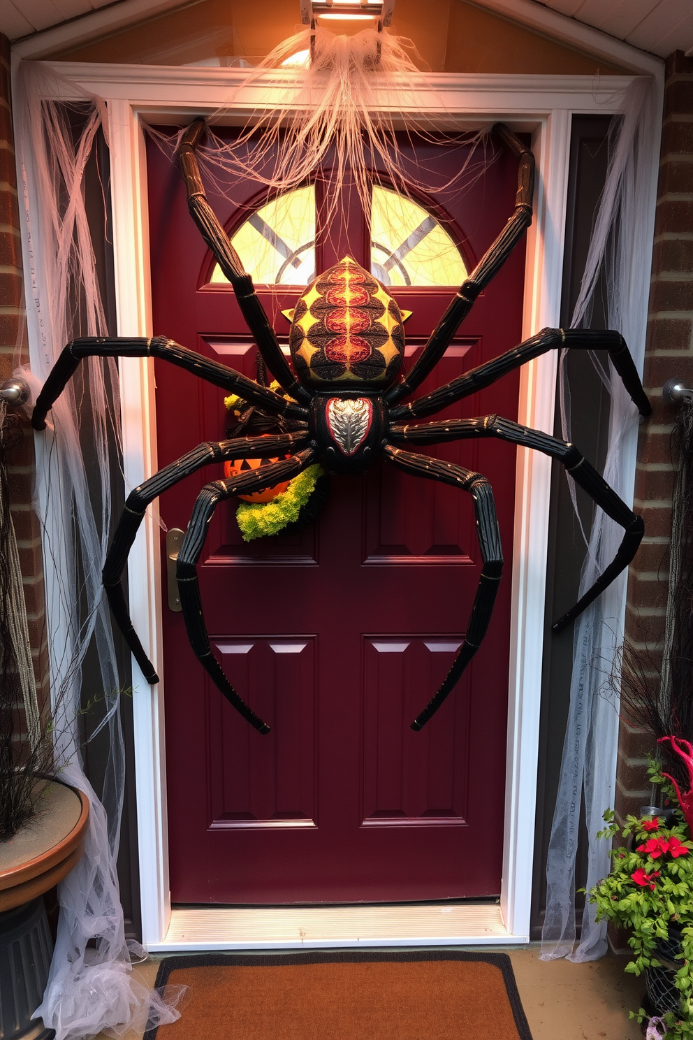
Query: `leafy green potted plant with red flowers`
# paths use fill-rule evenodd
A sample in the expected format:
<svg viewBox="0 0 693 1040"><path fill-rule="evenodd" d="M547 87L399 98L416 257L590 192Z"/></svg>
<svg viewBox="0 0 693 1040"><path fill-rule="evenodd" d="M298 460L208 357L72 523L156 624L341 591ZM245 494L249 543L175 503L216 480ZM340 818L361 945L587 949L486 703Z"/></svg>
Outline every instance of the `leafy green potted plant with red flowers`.
<svg viewBox="0 0 693 1040"><path fill-rule="evenodd" d="M667 807L662 815L628 816L619 828L613 811L605 812L607 827L597 836L625 841L612 849L611 874L588 892L588 899L596 905L597 920L610 920L631 933L633 960L627 971L639 976L666 969L672 960L679 965L671 969L681 994L678 1011L650 1017L640 1008L631 1017L640 1023L648 1020L648 1040L693 1040L693 747L671 736L660 743L666 742L663 750L678 756L688 789L682 790L676 780L651 763L649 778L660 786Z"/></svg>

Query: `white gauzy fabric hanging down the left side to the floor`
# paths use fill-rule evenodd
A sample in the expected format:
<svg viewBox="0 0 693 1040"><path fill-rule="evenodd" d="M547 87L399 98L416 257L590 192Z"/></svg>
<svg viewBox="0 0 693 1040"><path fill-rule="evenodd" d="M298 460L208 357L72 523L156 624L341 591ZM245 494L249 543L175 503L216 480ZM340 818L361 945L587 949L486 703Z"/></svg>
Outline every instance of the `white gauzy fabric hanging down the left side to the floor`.
<svg viewBox="0 0 693 1040"><path fill-rule="evenodd" d="M15 84L15 121L21 127L20 206L29 242L27 317L38 343L34 371L29 373L34 392L69 339L106 333L83 199L84 168L101 108L97 99L85 98L72 125L65 106L51 100L59 98L63 87L33 63L20 67ZM83 440L81 423L86 427ZM131 1026L143 1028L148 1018L179 1017L157 993L132 979L115 868L125 755L121 679L101 569L110 524L111 473L119 467L117 423L115 364L97 360L83 365L69 383L51 413L52 428L37 441L43 452L37 509L43 520L50 514L53 531L51 544L45 542L45 561L51 590L55 761L60 779L85 791L90 806L84 855L58 886L57 941L44 1000L35 1012L55 1030L56 1040L77 1040L100 1030L119 1036ZM103 804L84 776L78 732L81 666L91 641L101 683L86 694L91 701L103 701L99 729L108 728Z"/></svg>

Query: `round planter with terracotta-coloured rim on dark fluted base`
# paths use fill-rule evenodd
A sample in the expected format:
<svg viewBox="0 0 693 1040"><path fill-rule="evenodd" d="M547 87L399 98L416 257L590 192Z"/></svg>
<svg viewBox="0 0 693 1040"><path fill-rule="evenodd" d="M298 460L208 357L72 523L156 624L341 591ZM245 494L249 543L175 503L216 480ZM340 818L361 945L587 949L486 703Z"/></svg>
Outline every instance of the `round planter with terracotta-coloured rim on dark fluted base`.
<svg viewBox="0 0 693 1040"><path fill-rule="evenodd" d="M43 999L53 955L44 892L62 881L82 855L89 803L57 780L35 815L0 841L0 1040L51 1040L31 1015Z"/></svg>

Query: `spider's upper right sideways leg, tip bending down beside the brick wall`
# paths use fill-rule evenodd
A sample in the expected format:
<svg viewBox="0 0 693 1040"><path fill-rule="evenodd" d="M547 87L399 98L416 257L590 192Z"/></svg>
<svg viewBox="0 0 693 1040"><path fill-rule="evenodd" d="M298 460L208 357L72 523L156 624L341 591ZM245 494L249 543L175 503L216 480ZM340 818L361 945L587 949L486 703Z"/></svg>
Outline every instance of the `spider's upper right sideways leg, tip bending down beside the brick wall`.
<svg viewBox="0 0 693 1040"><path fill-rule="evenodd" d="M638 369L620 333L596 329L542 329L536 336L518 343L506 354L501 354L486 364L458 375L456 380L446 383L425 397L419 397L409 405L393 408L390 413L391 418L421 419L425 415L432 415L448 405L468 397L475 390L490 386L496 380L519 368L525 362L538 358L548 350L560 349L562 346L579 350L607 350L640 414L651 414L652 409L642 388Z"/></svg>

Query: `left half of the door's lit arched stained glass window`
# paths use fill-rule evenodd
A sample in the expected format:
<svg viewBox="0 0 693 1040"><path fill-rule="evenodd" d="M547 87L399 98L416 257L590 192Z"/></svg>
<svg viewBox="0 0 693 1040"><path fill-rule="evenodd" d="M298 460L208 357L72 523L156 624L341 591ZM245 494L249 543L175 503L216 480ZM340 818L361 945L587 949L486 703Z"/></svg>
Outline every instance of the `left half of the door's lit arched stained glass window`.
<svg viewBox="0 0 693 1040"><path fill-rule="evenodd" d="M308 285L315 278L315 187L272 199L244 220L231 244L256 285ZM218 264L210 281L226 281Z"/></svg>

